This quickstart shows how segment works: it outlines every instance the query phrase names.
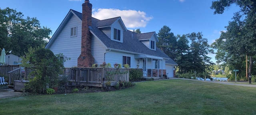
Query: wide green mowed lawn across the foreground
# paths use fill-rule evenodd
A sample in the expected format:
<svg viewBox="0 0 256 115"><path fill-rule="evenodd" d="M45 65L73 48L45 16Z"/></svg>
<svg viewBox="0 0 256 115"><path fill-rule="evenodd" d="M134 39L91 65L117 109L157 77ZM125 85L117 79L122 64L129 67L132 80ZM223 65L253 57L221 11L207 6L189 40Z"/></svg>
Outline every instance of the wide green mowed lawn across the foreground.
<svg viewBox="0 0 256 115"><path fill-rule="evenodd" d="M138 82L98 93L0 99L2 115L255 115L256 88L200 80Z"/></svg>

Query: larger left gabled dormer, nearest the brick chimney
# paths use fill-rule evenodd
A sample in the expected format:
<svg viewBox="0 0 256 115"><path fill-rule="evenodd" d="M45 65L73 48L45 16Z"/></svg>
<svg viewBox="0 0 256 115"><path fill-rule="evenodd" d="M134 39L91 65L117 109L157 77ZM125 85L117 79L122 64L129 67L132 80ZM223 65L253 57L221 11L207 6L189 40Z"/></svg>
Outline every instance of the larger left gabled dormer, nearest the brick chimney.
<svg viewBox="0 0 256 115"><path fill-rule="evenodd" d="M127 31L121 17L99 20L96 27L104 32L108 38L116 42L123 42L124 32Z"/></svg>

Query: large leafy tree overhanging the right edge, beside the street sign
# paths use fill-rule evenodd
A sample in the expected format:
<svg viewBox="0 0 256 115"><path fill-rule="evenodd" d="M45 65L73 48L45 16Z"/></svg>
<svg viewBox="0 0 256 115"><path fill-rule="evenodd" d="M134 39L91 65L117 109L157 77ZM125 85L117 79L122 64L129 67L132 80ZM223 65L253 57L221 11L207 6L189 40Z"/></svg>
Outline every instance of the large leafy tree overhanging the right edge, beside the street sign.
<svg viewBox="0 0 256 115"><path fill-rule="evenodd" d="M238 66L249 56L248 75L252 69L252 56L256 54L256 2L255 0L217 0L212 2L214 14L222 14L232 4L239 6L239 12L234 13L233 21L222 32L220 38L213 44L218 49L216 59L228 65ZM246 76L247 77L247 76Z"/></svg>

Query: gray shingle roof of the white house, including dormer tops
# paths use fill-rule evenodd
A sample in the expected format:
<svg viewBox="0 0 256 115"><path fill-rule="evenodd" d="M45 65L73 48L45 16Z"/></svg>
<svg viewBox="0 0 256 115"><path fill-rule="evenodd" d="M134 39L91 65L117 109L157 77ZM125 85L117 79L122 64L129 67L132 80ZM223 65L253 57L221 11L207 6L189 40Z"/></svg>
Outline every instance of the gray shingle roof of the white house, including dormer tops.
<svg viewBox="0 0 256 115"><path fill-rule="evenodd" d="M73 10L74 11L74 10ZM76 11L74 11L76 12ZM76 12L75 13L81 20L82 20L82 13ZM148 32L144 34L136 34L135 32L132 31L124 31L124 38L123 38L123 43L121 42L116 42L113 40L110 40L104 32L102 32L100 29L97 27L102 27L102 26L109 26L113 22L115 22L118 18L110 18L107 20L98 20L96 18L92 18L92 32L105 44L107 48L112 48L116 50L123 50L123 51L128 51L128 52L134 52L138 54L148 54L152 56L159 56L159 57L164 57L164 58L169 58L166 63L170 64L175 64L177 63L173 61L169 56L167 56L162 50L159 48L156 48L156 51L150 50L148 47L146 47L142 42L139 40L142 39L150 39L155 32ZM135 36L132 37L132 34Z"/></svg>

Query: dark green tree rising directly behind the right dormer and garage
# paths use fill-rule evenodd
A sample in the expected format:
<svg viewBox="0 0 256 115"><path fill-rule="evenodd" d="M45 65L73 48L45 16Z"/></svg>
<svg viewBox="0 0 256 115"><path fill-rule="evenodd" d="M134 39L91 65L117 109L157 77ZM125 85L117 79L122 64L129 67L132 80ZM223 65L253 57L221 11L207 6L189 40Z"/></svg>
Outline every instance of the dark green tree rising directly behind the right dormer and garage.
<svg viewBox="0 0 256 115"><path fill-rule="evenodd" d="M159 30L157 34L159 42L156 42L156 46L176 61L177 37L170 31L168 26L163 26Z"/></svg>

